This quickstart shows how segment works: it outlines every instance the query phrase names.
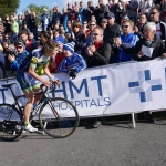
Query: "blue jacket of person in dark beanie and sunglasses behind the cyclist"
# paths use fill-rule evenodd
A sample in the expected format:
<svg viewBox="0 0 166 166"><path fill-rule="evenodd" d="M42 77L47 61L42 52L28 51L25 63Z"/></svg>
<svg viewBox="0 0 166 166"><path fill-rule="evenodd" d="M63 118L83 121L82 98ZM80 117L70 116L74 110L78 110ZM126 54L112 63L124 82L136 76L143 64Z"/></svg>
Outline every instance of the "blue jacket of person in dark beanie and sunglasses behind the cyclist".
<svg viewBox="0 0 166 166"><path fill-rule="evenodd" d="M23 60L29 55L27 51L23 51L21 54L18 55L18 59L11 63L11 69L17 71L18 68L22 64Z"/></svg>

